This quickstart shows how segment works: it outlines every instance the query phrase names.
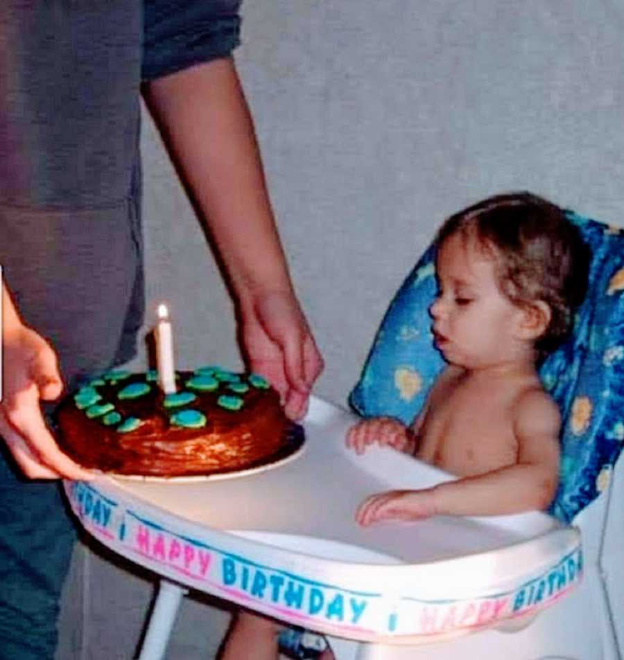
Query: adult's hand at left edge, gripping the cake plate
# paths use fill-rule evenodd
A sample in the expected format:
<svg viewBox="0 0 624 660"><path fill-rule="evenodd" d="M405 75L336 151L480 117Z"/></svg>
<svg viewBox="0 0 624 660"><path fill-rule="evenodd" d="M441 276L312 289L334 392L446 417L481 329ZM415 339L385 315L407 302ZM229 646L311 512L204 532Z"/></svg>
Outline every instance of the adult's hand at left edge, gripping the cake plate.
<svg viewBox="0 0 624 660"><path fill-rule="evenodd" d="M54 400L62 381L54 351L31 328L3 335L4 382L0 434L28 479L91 479L92 473L65 456L44 422L40 400Z"/></svg>

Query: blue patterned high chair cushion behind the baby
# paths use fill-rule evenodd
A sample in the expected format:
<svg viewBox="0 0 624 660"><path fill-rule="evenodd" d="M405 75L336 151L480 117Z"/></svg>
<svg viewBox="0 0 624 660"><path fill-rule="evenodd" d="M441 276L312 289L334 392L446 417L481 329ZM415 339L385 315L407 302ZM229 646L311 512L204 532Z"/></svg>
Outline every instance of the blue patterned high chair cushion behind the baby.
<svg viewBox="0 0 624 660"><path fill-rule="evenodd" d="M573 334L541 366L563 416L560 487L551 512L569 522L609 482L624 444L624 231L568 213L592 251L589 291ZM386 312L361 379L349 397L365 417L408 423L444 362L433 348L435 296L430 247Z"/></svg>

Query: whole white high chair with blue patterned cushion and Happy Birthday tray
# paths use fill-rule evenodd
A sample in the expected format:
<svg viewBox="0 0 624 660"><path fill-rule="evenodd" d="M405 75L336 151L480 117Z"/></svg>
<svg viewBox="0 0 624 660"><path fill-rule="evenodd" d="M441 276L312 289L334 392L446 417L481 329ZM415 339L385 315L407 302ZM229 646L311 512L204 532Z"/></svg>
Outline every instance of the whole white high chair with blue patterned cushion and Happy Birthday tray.
<svg viewBox="0 0 624 660"><path fill-rule="evenodd" d="M353 511L372 488L412 488L416 470L422 488L453 477L387 447L355 456L343 440L355 416L313 397L306 450L279 470L239 483L65 483L85 530L160 576L140 660L166 657L187 587L324 632L338 660L623 660L624 231L569 219L591 247L589 292L540 372L564 419L560 522L433 517L363 535ZM361 416L409 422L443 366L428 316L433 257L432 247L383 319L350 396ZM569 562L574 575L548 587ZM487 610L497 602L501 616Z"/></svg>

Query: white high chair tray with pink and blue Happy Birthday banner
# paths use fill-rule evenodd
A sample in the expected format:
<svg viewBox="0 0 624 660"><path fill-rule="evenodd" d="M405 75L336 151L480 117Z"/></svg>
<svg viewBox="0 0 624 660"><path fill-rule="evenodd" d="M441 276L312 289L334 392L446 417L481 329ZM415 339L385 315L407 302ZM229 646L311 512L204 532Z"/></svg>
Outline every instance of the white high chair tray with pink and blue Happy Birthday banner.
<svg viewBox="0 0 624 660"><path fill-rule="evenodd" d="M525 618L578 584L578 530L541 513L359 527L368 494L451 477L392 449L356 456L344 442L355 419L313 398L304 452L239 479L65 490L85 529L130 560L349 639L444 639Z"/></svg>

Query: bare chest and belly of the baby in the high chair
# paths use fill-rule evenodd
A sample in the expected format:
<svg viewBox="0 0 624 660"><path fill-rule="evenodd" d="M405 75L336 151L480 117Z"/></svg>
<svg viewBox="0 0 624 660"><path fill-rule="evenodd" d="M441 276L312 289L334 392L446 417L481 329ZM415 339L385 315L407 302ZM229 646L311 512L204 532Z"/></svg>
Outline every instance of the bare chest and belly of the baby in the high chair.
<svg viewBox="0 0 624 660"><path fill-rule="evenodd" d="M515 392L465 385L431 401L419 458L458 476L483 474L517 462Z"/></svg>

